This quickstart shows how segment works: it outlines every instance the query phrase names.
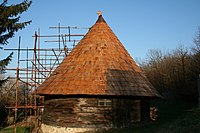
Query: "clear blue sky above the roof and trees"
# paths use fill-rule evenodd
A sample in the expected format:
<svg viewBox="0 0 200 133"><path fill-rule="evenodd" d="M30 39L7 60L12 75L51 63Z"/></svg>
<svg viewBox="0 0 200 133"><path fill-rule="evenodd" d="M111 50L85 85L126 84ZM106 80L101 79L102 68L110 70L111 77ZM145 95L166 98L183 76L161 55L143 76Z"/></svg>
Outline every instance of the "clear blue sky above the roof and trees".
<svg viewBox="0 0 200 133"><path fill-rule="evenodd" d="M180 43L194 45L200 26L200 0L32 0L29 10L21 14L21 22L32 23L15 34L4 48L32 48L35 31L41 35L57 33L49 26L91 27L102 11L107 24L133 59L145 59L150 49L175 49ZM21 2L8 0L9 4ZM85 31L80 31L86 33ZM43 43L43 42L41 42ZM46 45L46 44L45 44ZM9 51L10 52L10 51ZM0 59L9 52L1 50ZM16 56L9 67L15 68ZM2 58L1 58L2 57Z"/></svg>

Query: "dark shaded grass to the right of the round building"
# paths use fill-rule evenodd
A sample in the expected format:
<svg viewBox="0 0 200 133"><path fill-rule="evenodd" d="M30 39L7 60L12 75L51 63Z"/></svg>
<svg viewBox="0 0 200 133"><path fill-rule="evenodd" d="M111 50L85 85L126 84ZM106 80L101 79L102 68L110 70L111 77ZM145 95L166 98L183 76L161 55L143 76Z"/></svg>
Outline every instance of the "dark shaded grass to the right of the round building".
<svg viewBox="0 0 200 133"><path fill-rule="evenodd" d="M108 133L200 133L200 109L193 103L182 101L154 101L158 119L138 123L133 127L115 129Z"/></svg>

